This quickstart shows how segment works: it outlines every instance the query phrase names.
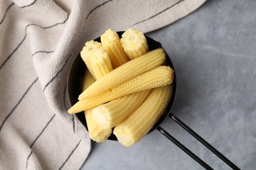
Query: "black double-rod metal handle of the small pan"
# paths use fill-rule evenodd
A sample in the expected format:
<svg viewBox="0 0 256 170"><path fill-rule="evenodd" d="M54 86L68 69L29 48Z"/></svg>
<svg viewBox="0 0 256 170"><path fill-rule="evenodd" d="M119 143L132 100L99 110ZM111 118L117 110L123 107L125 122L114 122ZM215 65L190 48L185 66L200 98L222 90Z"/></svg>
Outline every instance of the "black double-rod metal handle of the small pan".
<svg viewBox="0 0 256 170"><path fill-rule="evenodd" d="M211 144L207 143L207 141L205 141L205 139L200 137L200 135L198 135L198 133L196 133L194 130L192 130L190 127L188 127L186 124L184 124L184 122L182 122L179 118L177 118L177 116L171 114L171 112L170 112L169 117L171 119L173 119L177 124L179 124L179 126L181 126L183 129L188 131L188 133L190 133L190 135L192 135L194 138L196 138L198 141L200 141L200 143L202 143L205 147L207 147L209 150L211 150L211 152L213 152L213 154L218 156L221 160L223 160L232 169L240 169L239 167L234 165L234 163L232 163L232 161L228 160L228 158L226 158L223 154L221 154L221 152L219 152L216 148L211 146ZM186 146L181 144L179 141L177 141L177 139L175 139L173 136L171 136L169 133L167 133L167 131L165 131L162 127L159 126L157 129L163 135L165 135L165 137L167 137L170 141L172 141L174 144L179 146L179 148L181 148L184 152L186 152L186 154L188 154L191 158L193 158L198 163L200 163L200 165L205 167L205 169L212 169L204 161L202 161L200 158L198 158L198 156L196 156L194 153L192 153L190 150L188 150L188 148L186 148Z"/></svg>

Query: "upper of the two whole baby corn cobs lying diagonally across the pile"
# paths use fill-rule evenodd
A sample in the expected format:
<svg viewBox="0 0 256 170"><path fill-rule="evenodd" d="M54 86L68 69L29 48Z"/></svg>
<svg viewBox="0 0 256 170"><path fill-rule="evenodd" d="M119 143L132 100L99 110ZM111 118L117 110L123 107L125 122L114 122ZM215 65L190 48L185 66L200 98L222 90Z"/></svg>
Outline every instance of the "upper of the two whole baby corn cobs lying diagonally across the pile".
<svg viewBox="0 0 256 170"><path fill-rule="evenodd" d="M165 52L161 48L147 52L139 58L124 63L105 76L102 76L99 80L96 80L95 83L79 95L78 99L86 99L105 92L121 82L158 67L164 60Z"/></svg>

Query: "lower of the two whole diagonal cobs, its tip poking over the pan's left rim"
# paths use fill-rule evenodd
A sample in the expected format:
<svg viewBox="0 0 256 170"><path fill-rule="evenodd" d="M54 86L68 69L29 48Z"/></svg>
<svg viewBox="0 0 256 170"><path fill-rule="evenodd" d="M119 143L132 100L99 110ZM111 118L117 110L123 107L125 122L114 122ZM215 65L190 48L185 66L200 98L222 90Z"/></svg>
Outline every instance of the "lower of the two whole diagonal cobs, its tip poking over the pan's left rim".
<svg viewBox="0 0 256 170"><path fill-rule="evenodd" d="M167 84L171 84L171 82L173 82L173 69L169 66L159 66L151 71L147 71L146 73L136 76L135 78L122 82L114 88L107 90L104 93L100 93L100 95L78 101L68 110L68 112L70 114L75 114L108 101L112 101L124 95L165 86ZM93 84L91 86L93 86Z"/></svg>

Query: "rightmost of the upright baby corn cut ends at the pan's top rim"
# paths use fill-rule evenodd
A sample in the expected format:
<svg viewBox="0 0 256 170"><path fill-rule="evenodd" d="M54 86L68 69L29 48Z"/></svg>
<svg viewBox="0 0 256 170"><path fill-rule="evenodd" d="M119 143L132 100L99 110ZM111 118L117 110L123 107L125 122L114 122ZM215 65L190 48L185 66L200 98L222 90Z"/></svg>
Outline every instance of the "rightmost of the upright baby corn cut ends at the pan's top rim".
<svg viewBox="0 0 256 170"><path fill-rule="evenodd" d="M133 28L129 28L123 33L120 42L129 59L142 56L149 50L144 33Z"/></svg>

